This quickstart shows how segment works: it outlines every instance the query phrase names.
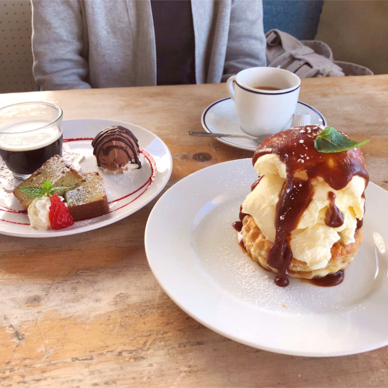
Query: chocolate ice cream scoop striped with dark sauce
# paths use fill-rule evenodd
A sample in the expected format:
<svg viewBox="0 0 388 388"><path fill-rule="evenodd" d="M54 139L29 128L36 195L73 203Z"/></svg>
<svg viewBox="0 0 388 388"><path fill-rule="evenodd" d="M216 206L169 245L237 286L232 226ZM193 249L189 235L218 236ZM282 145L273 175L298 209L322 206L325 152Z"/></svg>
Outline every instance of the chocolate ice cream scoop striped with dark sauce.
<svg viewBox="0 0 388 388"><path fill-rule="evenodd" d="M126 170L128 164L139 161L139 144L135 135L120 125L109 126L102 130L92 141L93 154L97 165L107 170Z"/></svg>

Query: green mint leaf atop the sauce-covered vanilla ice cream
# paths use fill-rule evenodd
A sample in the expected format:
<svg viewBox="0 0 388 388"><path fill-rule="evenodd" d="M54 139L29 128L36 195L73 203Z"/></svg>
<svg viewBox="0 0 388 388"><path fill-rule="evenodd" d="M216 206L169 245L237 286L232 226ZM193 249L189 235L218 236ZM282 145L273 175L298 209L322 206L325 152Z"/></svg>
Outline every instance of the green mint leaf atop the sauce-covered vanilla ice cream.
<svg viewBox="0 0 388 388"><path fill-rule="evenodd" d="M318 152L341 152L361 147L367 142L369 140L357 143L342 135L342 133L335 130L332 126L327 126L322 132L318 133L314 140L314 147Z"/></svg>

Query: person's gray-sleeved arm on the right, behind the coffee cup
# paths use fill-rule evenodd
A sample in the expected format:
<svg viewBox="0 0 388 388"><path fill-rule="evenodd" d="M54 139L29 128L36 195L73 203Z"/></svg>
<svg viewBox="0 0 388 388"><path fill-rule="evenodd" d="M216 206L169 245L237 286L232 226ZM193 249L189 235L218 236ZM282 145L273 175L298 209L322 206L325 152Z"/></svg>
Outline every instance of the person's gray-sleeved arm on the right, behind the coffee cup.
<svg viewBox="0 0 388 388"><path fill-rule="evenodd" d="M222 81L239 71L267 66L262 0L233 0Z"/></svg>

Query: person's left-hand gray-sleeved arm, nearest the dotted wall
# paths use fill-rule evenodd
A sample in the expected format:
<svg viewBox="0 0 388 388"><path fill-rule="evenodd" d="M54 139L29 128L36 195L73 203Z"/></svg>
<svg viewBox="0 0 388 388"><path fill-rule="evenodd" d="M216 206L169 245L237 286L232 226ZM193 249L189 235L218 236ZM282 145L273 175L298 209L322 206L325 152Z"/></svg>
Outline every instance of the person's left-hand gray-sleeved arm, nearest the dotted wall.
<svg viewBox="0 0 388 388"><path fill-rule="evenodd" d="M84 56L80 2L32 0L33 73L41 90L86 89L89 65Z"/></svg>

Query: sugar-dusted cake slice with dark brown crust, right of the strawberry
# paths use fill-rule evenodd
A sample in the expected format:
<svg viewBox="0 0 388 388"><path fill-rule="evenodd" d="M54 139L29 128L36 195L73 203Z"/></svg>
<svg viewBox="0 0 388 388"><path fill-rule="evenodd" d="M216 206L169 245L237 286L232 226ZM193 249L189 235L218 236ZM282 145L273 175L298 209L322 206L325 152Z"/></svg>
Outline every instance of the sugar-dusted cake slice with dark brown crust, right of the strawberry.
<svg viewBox="0 0 388 388"><path fill-rule="evenodd" d="M109 211L104 179L98 172L84 173L81 184L66 191L64 197L74 221L99 217Z"/></svg>

